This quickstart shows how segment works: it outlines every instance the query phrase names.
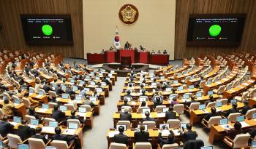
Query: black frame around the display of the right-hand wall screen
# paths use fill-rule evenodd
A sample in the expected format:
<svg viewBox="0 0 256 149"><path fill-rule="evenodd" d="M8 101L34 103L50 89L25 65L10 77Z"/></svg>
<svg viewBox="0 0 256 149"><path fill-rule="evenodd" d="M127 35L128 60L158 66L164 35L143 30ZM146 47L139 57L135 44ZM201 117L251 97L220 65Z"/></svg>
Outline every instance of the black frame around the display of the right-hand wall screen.
<svg viewBox="0 0 256 149"><path fill-rule="evenodd" d="M242 28L238 32L236 37L240 37L237 41L192 41L194 32L194 20L195 18L214 18L214 17L241 17L244 18ZM227 14L190 14L187 26L187 47L238 47L241 44L243 38L244 26L246 23L246 13L227 13ZM189 32L191 31L191 32Z"/></svg>

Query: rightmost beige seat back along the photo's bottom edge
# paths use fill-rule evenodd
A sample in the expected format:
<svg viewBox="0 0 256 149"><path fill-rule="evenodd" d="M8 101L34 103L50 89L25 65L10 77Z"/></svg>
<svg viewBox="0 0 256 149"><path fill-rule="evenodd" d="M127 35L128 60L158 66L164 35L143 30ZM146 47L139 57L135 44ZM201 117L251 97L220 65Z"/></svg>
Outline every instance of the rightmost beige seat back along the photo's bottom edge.
<svg viewBox="0 0 256 149"><path fill-rule="evenodd" d="M233 140L233 148L246 148L248 146L249 138L249 134L237 134Z"/></svg>

